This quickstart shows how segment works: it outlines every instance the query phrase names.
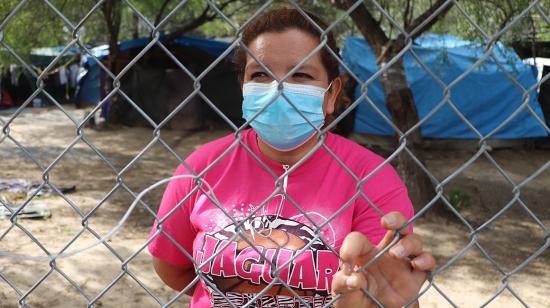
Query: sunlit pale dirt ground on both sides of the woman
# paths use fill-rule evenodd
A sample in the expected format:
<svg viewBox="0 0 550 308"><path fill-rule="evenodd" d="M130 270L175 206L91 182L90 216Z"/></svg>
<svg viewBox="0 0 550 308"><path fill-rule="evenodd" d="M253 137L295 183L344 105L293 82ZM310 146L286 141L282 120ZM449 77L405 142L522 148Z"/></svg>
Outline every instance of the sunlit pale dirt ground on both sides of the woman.
<svg viewBox="0 0 550 308"><path fill-rule="evenodd" d="M83 117L83 110L69 109L75 119ZM0 113L6 121L9 115ZM1 124L1 123L0 123ZM21 114L10 126L10 136L37 157L44 167L50 166L66 146L76 137L76 128L58 110L31 110ZM227 134L227 130L211 130L182 135L162 131L161 138L185 157L202 143ZM1 138L2 135L0 135ZM133 201L131 194L169 177L178 164L174 156L160 143L142 150L153 138L147 128L119 127L106 130L84 129L86 140L92 143L112 163L111 167L98 158L94 150L78 141L49 171L49 181L60 187L76 185L76 192L57 195L37 202L47 204L52 216L47 219L19 220L19 226L11 227L9 220L0 220L0 253L44 256L26 232L32 234L45 249L57 252L83 233L72 245L83 247L94 240L90 231L83 231L82 215L101 204L85 224L99 235L105 235L124 215ZM132 167L125 166L142 154ZM438 180L451 175L475 153L473 151L429 151L428 168ZM461 214L474 229L483 225L514 198L513 185L520 183L550 159L550 151L495 150L494 160L502 166L509 178L485 157L480 157L471 167L451 180L446 191L460 192L469 203ZM9 139L0 143L0 178L40 181L40 169ZM126 187L117 186L116 173ZM116 188L118 187L118 188ZM116 188L116 189L115 189ZM156 210L163 187L146 195L144 201ZM522 187L518 195L521 201L550 227L550 169ZM55 262L57 270L51 271L49 261L28 261L0 255L0 307L17 307L18 300L26 295L25 303L31 307L83 307L88 300L75 290L64 276L82 288L90 299L98 297L98 307L152 307L158 303L140 286L146 286L159 301L165 303L177 293L166 287L153 271L150 255L144 249L152 224L152 216L144 207L138 207L109 245L118 253L115 257L104 246ZM9 232L8 232L9 230ZM461 307L478 307L503 286L502 294L489 307L522 307L512 292L530 307L550 307L550 249L546 249L529 265L514 271L528 257L550 241L535 220L514 202L510 209L494 223L475 235L458 218L421 218L415 230L422 235L425 246L444 269L434 279L434 284L421 297L422 307L447 307L452 303ZM6 233L7 232L7 233ZM480 248L471 249L447 266L454 256L473 240L479 243L485 254L495 264L484 258ZM473 243L473 242L472 242ZM136 253L139 252L139 253ZM130 261L126 264L126 260ZM122 275L127 267L131 275ZM504 280L505 273L514 272ZM2 279L3 278L3 279ZM18 294L5 279L14 284ZM43 281L42 281L43 280ZM41 281L41 282L40 282ZM40 282L40 283L37 283ZM185 302L185 298L178 300ZM181 306L176 305L176 306Z"/></svg>

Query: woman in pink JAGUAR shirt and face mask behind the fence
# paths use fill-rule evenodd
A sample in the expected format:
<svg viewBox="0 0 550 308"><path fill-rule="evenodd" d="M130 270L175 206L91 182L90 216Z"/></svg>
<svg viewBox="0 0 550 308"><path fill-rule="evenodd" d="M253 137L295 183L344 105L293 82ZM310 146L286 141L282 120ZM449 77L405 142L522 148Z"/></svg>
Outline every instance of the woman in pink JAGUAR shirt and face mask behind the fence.
<svg viewBox="0 0 550 308"><path fill-rule="evenodd" d="M338 62L324 48L309 56L319 32L294 9L262 14L242 42L254 55L236 53L252 129L191 154L186 164L201 180L169 183L151 231L155 270L187 288L192 307L370 307L364 288L388 307L407 304L434 260L402 228L413 215L406 188L369 150L318 135L342 89ZM336 50L332 35L327 46ZM183 174L192 173L180 165L175 175ZM402 237L389 254L354 271L396 230Z"/></svg>

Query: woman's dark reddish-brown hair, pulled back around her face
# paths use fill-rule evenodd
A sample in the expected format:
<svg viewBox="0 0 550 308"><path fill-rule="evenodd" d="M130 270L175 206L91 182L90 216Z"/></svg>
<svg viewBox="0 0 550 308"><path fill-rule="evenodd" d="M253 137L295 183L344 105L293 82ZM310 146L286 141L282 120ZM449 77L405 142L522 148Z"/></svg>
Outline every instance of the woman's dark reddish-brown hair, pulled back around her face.
<svg viewBox="0 0 550 308"><path fill-rule="evenodd" d="M327 24L319 17L312 13L306 12L306 14L323 30L327 28ZM302 15L298 10L293 8L279 8L270 10L259 15L256 19L250 22L243 31L241 42L247 47L250 43L266 32L283 32L289 29L298 29L304 31L315 38L321 40L321 33L306 17ZM327 43L320 49L321 62L325 67L329 82L338 77L339 63L327 50L330 48L335 54L338 54L338 48L336 47L336 40L331 32L327 33ZM244 48L238 48L235 52L235 66L237 69L237 75L239 81L244 80L244 68L246 66L246 51Z"/></svg>

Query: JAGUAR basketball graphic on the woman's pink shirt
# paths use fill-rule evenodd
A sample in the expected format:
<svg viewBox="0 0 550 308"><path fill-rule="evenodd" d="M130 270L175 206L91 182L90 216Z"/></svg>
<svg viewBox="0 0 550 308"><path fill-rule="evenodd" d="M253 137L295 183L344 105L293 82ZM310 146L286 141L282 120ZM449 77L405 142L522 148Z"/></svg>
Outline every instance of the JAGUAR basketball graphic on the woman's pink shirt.
<svg viewBox="0 0 550 308"><path fill-rule="evenodd" d="M299 220L307 219L262 215L204 234L194 257L203 264L212 306L238 307L250 301L249 307L328 303L332 275L338 270L338 258L327 246L333 243L321 240L320 232ZM331 230L322 230L327 229Z"/></svg>

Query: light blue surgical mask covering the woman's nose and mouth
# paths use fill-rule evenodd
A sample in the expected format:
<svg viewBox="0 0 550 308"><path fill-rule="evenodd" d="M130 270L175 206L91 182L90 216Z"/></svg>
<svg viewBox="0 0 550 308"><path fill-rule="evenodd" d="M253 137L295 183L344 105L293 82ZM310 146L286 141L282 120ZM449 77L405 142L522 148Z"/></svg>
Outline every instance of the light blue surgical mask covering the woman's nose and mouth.
<svg viewBox="0 0 550 308"><path fill-rule="evenodd" d="M321 128L325 122L325 92L326 89L316 86L283 82L282 93L315 128ZM243 86L243 97L243 118L247 121L274 99L271 105L250 122L262 141L274 149L291 151L315 135L316 129L279 94L277 81L246 83Z"/></svg>

